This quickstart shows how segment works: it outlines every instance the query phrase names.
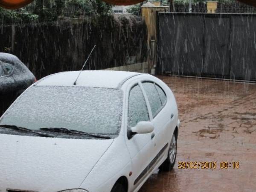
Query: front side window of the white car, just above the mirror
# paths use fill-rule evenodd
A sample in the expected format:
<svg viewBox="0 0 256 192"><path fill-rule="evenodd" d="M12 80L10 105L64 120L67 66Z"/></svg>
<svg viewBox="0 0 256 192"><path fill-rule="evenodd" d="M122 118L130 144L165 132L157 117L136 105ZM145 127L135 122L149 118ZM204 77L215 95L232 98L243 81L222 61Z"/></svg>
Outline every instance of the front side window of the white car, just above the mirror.
<svg viewBox="0 0 256 192"><path fill-rule="evenodd" d="M128 126L134 127L140 121L149 121L149 115L143 92L137 84L129 93Z"/></svg>

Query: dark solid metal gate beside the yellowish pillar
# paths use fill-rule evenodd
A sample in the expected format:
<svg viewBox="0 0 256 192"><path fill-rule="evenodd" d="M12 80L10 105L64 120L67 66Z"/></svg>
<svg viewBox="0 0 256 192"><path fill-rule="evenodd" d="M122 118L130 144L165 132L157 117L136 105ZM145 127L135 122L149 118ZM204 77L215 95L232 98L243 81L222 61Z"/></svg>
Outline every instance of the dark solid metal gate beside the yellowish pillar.
<svg viewBox="0 0 256 192"><path fill-rule="evenodd" d="M157 73L256 80L256 15L158 13Z"/></svg>

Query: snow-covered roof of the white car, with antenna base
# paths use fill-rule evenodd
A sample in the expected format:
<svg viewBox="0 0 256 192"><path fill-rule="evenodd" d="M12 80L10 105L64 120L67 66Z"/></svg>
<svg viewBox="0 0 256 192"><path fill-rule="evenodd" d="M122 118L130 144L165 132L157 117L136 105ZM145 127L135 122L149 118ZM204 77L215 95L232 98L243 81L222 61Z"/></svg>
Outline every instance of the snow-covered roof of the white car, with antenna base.
<svg viewBox="0 0 256 192"><path fill-rule="evenodd" d="M55 73L41 79L36 85L74 86L74 81L76 81L79 73L80 71ZM125 80L140 74L142 73L108 70L86 70L81 72L78 80L76 81L76 86L118 88Z"/></svg>

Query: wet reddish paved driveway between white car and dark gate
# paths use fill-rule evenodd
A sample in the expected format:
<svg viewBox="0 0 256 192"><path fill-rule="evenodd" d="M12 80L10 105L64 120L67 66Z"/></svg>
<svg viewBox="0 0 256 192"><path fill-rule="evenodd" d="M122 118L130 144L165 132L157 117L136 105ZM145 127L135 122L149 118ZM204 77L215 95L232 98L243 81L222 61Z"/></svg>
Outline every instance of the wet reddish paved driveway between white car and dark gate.
<svg viewBox="0 0 256 192"><path fill-rule="evenodd" d="M256 84L159 78L177 99L177 159L171 172L156 172L140 192L255 192ZM178 169L184 161L217 162L217 168ZM221 169L221 162L228 162L228 168ZM239 162L239 169L232 162Z"/></svg>

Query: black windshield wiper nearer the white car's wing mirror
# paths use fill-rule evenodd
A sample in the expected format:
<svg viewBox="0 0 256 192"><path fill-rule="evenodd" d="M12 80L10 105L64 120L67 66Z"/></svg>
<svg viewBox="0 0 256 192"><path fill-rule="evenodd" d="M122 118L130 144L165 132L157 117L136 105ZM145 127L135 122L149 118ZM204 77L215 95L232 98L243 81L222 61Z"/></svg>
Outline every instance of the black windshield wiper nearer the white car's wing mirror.
<svg viewBox="0 0 256 192"><path fill-rule="evenodd" d="M52 131L52 132L60 132L60 133L66 133L66 134L79 134L79 135L85 135L89 137L96 137L96 138L102 138L102 139L111 139L111 137L107 135L102 135L102 134L93 134L93 133L86 133L84 131L77 131L73 129L67 129L67 128L40 128L40 130L43 131Z"/></svg>

